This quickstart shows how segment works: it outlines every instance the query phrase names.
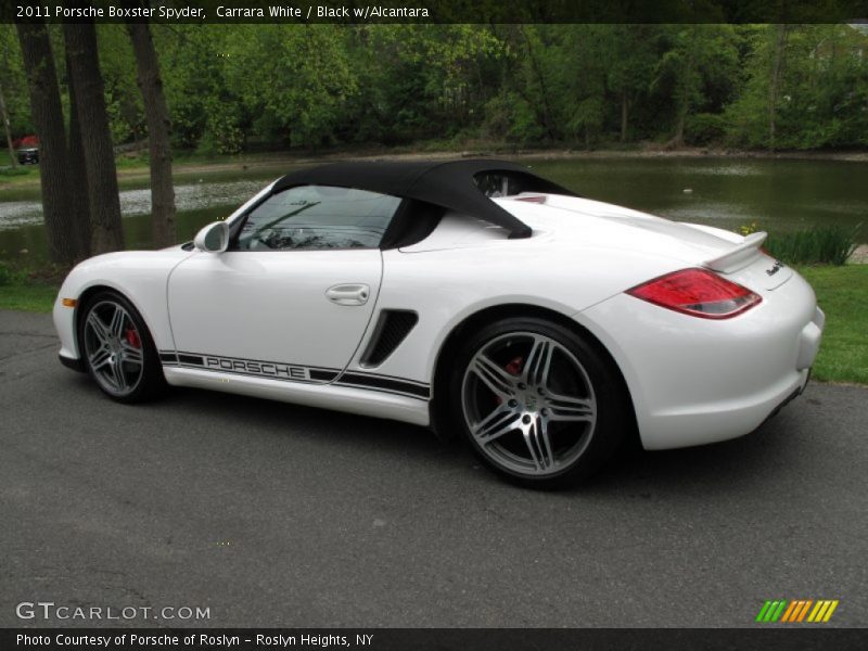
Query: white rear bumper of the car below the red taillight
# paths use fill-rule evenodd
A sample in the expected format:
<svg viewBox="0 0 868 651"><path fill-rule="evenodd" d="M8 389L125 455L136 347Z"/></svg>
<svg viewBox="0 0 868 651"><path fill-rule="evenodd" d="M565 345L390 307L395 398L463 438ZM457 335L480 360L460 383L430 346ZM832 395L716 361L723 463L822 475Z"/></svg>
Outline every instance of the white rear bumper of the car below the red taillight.
<svg viewBox="0 0 868 651"><path fill-rule="evenodd" d="M724 321L626 294L576 315L618 363L646 449L743 436L804 390L825 315L795 273L762 294L757 307Z"/></svg>

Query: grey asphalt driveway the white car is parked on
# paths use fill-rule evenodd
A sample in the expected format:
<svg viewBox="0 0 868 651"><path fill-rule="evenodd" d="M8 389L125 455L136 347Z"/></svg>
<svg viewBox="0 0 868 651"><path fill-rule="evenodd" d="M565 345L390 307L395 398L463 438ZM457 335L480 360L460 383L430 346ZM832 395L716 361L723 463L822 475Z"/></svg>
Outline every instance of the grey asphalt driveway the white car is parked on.
<svg viewBox="0 0 868 651"><path fill-rule="evenodd" d="M117 405L56 352L49 316L0 312L0 626L78 624L16 616L37 601L221 627L752 626L767 599L868 624L866 388L814 384L751 436L537 493L399 423L191 390Z"/></svg>

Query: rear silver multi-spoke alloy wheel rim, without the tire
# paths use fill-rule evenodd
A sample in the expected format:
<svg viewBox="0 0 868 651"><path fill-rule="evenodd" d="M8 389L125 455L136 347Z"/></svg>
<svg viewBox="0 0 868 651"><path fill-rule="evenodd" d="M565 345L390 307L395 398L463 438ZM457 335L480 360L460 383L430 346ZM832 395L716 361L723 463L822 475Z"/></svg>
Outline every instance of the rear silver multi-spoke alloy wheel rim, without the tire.
<svg viewBox="0 0 868 651"><path fill-rule="evenodd" d="M513 332L487 342L468 363L463 416L482 452L520 475L553 475L575 462L597 424L587 371L549 336Z"/></svg>

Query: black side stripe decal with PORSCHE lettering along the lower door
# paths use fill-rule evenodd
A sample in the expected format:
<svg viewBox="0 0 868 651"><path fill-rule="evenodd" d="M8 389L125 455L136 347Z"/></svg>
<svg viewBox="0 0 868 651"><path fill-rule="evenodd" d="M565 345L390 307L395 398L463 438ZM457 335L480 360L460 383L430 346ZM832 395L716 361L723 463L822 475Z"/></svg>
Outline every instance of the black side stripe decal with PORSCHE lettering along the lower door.
<svg viewBox="0 0 868 651"><path fill-rule="evenodd" d="M233 373L269 380L289 382L328 383L336 386L352 386L383 393L409 396L422 400L431 397L431 388L423 382L378 375L373 373L347 372L341 374L340 369L306 367L281 361L263 361L241 357L224 357L205 353L188 353L180 350L161 350L159 361L165 367L195 368L219 373ZM339 376L340 375L340 376Z"/></svg>

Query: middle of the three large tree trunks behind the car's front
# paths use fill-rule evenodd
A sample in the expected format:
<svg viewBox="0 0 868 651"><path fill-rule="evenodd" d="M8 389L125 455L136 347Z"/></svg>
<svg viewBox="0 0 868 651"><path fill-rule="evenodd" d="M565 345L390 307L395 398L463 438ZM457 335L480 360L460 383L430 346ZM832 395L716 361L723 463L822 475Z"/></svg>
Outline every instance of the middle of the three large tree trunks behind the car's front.
<svg viewBox="0 0 868 651"><path fill-rule="evenodd" d="M94 254L124 248L117 169L105 110L105 94L97 55L97 30L92 22L65 24L63 36L69 62L85 169Z"/></svg>

